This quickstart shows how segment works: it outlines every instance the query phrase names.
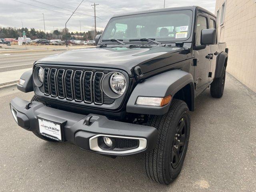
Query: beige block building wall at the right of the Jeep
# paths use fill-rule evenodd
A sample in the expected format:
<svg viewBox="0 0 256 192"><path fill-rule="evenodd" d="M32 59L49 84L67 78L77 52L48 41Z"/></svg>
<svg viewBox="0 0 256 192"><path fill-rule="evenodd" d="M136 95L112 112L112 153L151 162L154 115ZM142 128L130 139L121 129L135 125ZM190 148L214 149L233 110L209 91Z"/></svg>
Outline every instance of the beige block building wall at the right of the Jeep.
<svg viewBox="0 0 256 192"><path fill-rule="evenodd" d="M256 0L216 0L215 14L220 42L229 48L227 72L256 92Z"/></svg>

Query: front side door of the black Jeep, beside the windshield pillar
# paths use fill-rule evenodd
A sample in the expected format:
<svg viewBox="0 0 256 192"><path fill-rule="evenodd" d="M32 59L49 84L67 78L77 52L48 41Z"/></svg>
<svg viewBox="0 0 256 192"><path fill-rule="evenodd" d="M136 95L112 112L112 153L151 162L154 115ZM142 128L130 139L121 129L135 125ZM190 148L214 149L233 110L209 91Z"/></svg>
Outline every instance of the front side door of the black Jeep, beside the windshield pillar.
<svg viewBox="0 0 256 192"><path fill-rule="evenodd" d="M208 14L199 12L197 16L196 24L196 45L200 44L201 31L208 29ZM211 52L210 46L206 46L205 49L195 50L195 58L198 60L195 66L194 81L196 84L196 94L202 92L209 84L209 71L210 71L210 60L206 56Z"/></svg>

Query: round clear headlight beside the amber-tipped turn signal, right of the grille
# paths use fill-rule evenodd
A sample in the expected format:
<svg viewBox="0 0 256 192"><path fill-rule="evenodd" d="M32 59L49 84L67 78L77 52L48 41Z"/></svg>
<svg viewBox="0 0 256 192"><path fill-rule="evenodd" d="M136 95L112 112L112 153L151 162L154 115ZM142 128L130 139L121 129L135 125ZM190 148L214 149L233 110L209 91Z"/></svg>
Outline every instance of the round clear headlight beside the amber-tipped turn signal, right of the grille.
<svg viewBox="0 0 256 192"><path fill-rule="evenodd" d="M114 72L110 76L110 87L113 92L123 94L126 89L126 79L122 73Z"/></svg>

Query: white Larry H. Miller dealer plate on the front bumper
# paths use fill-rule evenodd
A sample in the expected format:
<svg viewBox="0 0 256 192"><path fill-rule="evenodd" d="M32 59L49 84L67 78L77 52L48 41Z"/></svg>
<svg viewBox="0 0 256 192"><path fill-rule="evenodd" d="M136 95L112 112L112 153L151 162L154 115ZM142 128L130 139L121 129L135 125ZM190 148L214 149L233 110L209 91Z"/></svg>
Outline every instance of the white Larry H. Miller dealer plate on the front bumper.
<svg viewBox="0 0 256 192"><path fill-rule="evenodd" d="M59 123L38 118L39 131L45 137L62 141L62 131Z"/></svg>

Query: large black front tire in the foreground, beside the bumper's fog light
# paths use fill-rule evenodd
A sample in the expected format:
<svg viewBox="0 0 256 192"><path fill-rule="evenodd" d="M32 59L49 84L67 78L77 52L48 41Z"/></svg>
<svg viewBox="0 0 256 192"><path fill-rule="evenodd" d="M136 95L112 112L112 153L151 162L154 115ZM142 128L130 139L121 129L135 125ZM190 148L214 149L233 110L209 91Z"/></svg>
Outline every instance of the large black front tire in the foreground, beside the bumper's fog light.
<svg viewBox="0 0 256 192"><path fill-rule="evenodd" d="M170 184L179 175L188 149L190 115L187 104L173 99L169 111L153 116L148 126L158 130L158 142L154 150L145 154L145 170L148 178L160 184Z"/></svg>

